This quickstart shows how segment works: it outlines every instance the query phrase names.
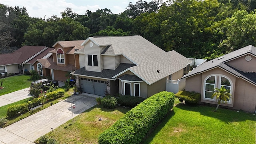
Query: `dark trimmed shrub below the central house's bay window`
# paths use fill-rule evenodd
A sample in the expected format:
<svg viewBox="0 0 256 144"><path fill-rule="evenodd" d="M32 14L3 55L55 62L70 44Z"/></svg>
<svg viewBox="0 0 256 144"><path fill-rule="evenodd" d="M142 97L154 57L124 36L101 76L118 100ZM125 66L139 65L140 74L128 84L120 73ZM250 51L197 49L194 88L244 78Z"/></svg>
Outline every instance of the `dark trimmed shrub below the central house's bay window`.
<svg viewBox="0 0 256 144"><path fill-rule="evenodd" d="M122 106L128 106L130 108L134 108L141 102L146 100L146 98L138 97L138 96L120 96L118 98L118 103Z"/></svg>

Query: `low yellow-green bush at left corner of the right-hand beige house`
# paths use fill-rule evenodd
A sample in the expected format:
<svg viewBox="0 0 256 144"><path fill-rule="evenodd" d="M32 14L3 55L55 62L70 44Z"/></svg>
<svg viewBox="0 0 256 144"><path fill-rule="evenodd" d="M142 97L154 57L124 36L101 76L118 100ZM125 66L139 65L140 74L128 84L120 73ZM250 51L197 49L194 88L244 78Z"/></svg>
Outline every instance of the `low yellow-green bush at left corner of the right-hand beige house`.
<svg viewBox="0 0 256 144"><path fill-rule="evenodd" d="M175 96L185 100L186 103L196 104L200 101L201 94L196 92L179 91L175 94Z"/></svg>

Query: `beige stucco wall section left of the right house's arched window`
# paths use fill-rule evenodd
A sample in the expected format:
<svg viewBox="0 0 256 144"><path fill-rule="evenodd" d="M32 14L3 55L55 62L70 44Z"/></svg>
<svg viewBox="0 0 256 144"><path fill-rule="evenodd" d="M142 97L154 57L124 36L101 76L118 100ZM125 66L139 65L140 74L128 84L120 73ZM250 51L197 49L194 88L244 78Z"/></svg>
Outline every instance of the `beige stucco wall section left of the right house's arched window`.
<svg viewBox="0 0 256 144"><path fill-rule="evenodd" d="M186 78L186 91L192 92L198 92L201 93L202 89L202 74L197 74L192 77Z"/></svg>

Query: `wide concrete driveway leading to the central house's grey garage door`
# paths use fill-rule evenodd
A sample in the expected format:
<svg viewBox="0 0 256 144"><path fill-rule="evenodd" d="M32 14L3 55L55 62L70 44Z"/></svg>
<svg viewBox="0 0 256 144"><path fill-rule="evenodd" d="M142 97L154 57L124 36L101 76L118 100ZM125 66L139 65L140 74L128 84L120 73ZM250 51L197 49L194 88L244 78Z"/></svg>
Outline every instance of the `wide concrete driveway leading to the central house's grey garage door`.
<svg viewBox="0 0 256 144"><path fill-rule="evenodd" d="M99 97L94 94L78 94L62 100L40 112L0 129L0 144L33 144L40 136L91 108ZM68 110L68 108L76 108ZM73 112L73 114L72 114Z"/></svg>

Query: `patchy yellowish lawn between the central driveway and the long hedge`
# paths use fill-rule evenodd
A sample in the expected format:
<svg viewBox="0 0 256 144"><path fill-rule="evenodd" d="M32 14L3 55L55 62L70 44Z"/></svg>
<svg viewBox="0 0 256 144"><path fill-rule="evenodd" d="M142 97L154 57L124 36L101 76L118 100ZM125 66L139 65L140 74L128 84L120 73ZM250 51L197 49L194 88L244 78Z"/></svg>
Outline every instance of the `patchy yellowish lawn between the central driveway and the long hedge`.
<svg viewBox="0 0 256 144"><path fill-rule="evenodd" d="M97 144L100 133L129 110L122 106L107 109L102 108L102 105L96 105L76 116L74 122L69 120L46 135L55 138L61 144ZM99 121L99 118L103 120Z"/></svg>

